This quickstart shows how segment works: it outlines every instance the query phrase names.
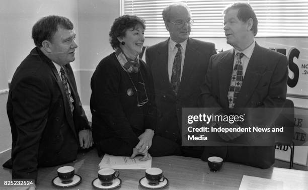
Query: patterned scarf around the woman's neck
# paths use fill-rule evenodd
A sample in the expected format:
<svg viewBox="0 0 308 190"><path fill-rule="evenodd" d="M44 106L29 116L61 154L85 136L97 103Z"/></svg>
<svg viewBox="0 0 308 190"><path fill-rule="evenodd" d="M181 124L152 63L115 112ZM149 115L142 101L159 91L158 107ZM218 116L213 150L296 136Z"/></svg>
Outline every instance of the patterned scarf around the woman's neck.
<svg viewBox="0 0 308 190"><path fill-rule="evenodd" d="M129 72L129 73L138 72L139 66L140 66L139 55L137 56L135 60L129 59L128 57L126 57L126 55L124 54L124 52L122 51L120 47L115 50L115 54L121 66L126 72Z"/></svg>

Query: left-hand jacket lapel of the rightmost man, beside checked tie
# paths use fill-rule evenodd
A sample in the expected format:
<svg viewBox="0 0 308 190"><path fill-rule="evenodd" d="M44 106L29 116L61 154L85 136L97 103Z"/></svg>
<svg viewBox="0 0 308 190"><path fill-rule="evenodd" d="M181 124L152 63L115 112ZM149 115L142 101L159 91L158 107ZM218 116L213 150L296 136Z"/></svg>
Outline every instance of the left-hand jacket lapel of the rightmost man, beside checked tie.
<svg viewBox="0 0 308 190"><path fill-rule="evenodd" d="M231 73L233 70L234 50L230 49L224 57L221 58L218 64L218 78L219 78L219 96L221 106L228 108L227 94L230 87Z"/></svg>

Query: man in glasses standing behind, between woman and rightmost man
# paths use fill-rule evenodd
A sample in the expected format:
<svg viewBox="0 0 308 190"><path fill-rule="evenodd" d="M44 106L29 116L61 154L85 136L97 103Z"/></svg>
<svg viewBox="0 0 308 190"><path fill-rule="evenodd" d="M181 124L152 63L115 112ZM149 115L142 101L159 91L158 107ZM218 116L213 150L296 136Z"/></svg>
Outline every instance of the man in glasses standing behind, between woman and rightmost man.
<svg viewBox="0 0 308 190"><path fill-rule="evenodd" d="M156 133L181 145L182 108L197 107L208 60L216 51L213 43L189 38L193 20L186 4L167 6L163 19L170 38L147 48L145 56L156 93ZM203 147L182 146L184 156L200 158L202 151Z"/></svg>

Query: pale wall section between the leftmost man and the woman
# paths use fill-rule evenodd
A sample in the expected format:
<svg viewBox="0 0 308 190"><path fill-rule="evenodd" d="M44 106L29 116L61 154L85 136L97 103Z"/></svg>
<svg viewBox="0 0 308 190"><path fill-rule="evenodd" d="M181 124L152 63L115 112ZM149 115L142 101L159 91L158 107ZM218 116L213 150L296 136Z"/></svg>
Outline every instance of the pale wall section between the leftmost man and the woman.
<svg viewBox="0 0 308 190"><path fill-rule="evenodd" d="M109 30L120 16L120 1L78 1L80 37L81 99L89 121L90 80L98 63L113 52L109 43Z"/></svg>

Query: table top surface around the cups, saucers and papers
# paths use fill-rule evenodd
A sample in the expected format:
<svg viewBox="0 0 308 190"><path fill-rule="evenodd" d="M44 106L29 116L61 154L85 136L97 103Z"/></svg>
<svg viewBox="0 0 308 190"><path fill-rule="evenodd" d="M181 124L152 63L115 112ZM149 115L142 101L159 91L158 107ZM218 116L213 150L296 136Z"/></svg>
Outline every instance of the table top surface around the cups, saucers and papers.
<svg viewBox="0 0 308 190"><path fill-rule="evenodd" d="M10 156L11 151L0 154L0 163L3 164ZM97 178L101 159L96 150L92 149L79 153L74 162L65 164L73 166L75 173L83 178L79 185L67 189L95 189L92 181ZM57 168L60 166L39 168L36 189L59 189L52 185L51 180L57 176ZM163 189L239 189L243 175L283 181L284 189L308 188L308 172L294 169L260 169L224 162L219 172L211 172L207 162L182 156L153 157L152 167L161 168L168 178L169 185ZM139 179L145 176L145 170L118 170L122 184L117 189L145 189L139 185ZM0 187L3 188L4 181L12 179L12 170L2 167L0 173Z"/></svg>

